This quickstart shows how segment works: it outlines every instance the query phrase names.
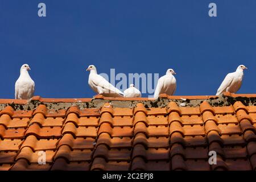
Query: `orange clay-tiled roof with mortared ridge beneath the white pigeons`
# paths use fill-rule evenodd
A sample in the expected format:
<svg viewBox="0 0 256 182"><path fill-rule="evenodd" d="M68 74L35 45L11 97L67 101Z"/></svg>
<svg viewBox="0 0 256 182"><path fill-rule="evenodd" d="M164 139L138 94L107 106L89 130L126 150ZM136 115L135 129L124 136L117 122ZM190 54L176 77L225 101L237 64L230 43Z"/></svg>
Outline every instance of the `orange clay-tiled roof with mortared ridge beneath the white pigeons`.
<svg viewBox="0 0 256 182"><path fill-rule="evenodd" d="M255 170L255 99L0 100L0 170Z"/></svg>

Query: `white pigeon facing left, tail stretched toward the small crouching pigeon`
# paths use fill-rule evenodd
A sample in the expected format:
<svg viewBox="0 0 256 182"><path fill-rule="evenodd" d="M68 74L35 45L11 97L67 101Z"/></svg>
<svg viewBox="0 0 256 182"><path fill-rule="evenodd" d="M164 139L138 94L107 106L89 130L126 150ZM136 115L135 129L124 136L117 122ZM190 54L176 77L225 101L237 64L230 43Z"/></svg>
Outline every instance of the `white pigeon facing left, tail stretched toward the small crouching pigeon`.
<svg viewBox="0 0 256 182"><path fill-rule="evenodd" d="M94 92L106 97L123 97L123 93L120 90L115 88L110 82L106 81L104 77L98 75L94 65L89 65L86 71L90 71L88 84Z"/></svg>

